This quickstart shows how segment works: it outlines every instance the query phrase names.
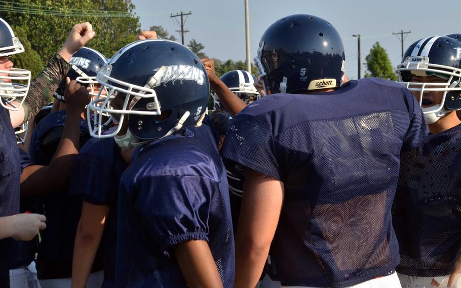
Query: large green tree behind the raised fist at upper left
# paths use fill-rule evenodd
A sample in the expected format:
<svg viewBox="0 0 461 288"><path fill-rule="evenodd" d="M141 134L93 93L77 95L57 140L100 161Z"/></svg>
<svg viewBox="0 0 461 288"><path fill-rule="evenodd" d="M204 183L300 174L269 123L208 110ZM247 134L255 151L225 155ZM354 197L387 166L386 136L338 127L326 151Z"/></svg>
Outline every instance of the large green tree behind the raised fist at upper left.
<svg viewBox="0 0 461 288"><path fill-rule="evenodd" d="M120 48L135 41L139 32L139 18L133 16L135 6L131 0L15 0L12 3L4 5L48 11L43 14L0 12L0 17L10 25L24 29L32 49L39 52L44 60L50 59L59 50L70 29L77 23L88 21L93 25L96 36L88 47L106 57L111 57ZM125 17L110 17L107 11L118 11L124 13Z"/></svg>

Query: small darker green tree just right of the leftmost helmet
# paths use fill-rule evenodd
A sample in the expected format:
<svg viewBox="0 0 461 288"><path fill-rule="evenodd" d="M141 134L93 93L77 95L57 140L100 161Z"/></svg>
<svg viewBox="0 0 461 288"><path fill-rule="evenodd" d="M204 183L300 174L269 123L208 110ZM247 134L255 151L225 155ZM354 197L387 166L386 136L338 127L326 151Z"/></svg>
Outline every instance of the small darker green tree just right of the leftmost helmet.
<svg viewBox="0 0 461 288"><path fill-rule="evenodd" d="M30 47L30 42L27 40L24 29L19 26L13 26L12 28L16 37L19 38L22 46L24 46L24 52L11 56L11 61L15 67L30 70L33 79L43 70L44 64L42 58Z"/></svg>

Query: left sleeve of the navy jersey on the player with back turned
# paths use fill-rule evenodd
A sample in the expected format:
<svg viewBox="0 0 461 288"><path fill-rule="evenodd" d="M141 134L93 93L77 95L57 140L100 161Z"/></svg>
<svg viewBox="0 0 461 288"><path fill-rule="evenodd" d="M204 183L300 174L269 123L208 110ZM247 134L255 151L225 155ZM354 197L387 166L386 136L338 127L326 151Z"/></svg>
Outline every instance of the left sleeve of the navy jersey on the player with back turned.
<svg viewBox="0 0 461 288"><path fill-rule="evenodd" d="M283 180L272 129L260 119L241 114L227 129L222 148L227 164L235 163Z"/></svg>

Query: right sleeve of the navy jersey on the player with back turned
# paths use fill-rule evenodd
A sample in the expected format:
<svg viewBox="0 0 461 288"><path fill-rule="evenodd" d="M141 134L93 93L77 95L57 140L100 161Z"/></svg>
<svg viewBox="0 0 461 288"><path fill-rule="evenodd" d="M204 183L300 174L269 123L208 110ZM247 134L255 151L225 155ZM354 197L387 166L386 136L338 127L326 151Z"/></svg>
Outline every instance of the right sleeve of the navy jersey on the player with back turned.
<svg viewBox="0 0 461 288"><path fill-rule="evenodd" d="M413 107L410 107L410 125L407 133L403 138L402 152L410 151L417 148L422 141L424 141L429 134L428 123L422 113L421 106L416 99L411 95L411 92L407 90L408 97L411 97L409 103L413 103ZM411 109L412 108L412 109Z"/></svg>

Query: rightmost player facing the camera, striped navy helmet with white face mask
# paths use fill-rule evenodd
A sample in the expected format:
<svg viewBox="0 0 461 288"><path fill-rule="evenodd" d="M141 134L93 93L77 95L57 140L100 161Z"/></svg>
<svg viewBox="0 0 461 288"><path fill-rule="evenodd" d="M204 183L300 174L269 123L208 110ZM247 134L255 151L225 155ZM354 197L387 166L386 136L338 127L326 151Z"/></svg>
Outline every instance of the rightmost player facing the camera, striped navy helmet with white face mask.
<svg viewBox="0 0 461 288"><path fill-rule="evenodd" d="M405 52L397 72L413 92L431 135L401 156L394 201L402 287L446 287L461 272L461 42L427 37ZM450 275L451 274L451 275Z"/></svg>

